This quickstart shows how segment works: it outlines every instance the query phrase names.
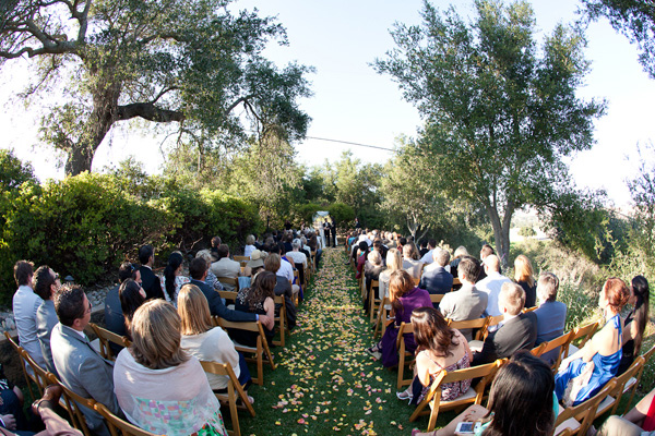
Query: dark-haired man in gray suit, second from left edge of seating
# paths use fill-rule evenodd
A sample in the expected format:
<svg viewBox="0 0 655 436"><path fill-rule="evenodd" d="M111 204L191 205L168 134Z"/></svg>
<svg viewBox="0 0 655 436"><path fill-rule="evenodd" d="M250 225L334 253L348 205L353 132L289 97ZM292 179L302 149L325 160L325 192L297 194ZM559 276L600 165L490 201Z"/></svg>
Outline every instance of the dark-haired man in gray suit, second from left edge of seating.
<svg viewBox="0 0 655 436"><path fill-rule="evenodd" d="M36 311L36 336L38 337L41 354L46 361L46 368L52 374L57 374L57 370L52 362L50 334L52 332L52 328L59 323L52 298L59 287L61 287L59 275L55 274L50 267L44 265L34 272L34 292L44 300Z"/></svg>

